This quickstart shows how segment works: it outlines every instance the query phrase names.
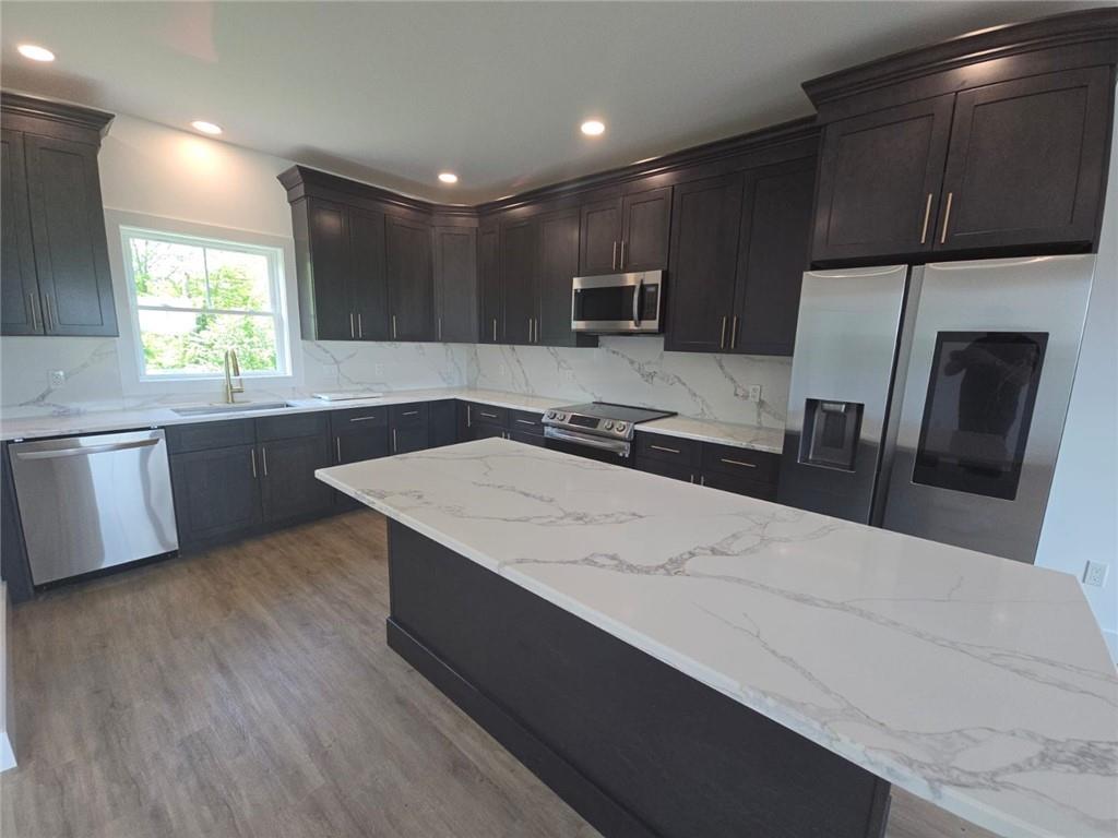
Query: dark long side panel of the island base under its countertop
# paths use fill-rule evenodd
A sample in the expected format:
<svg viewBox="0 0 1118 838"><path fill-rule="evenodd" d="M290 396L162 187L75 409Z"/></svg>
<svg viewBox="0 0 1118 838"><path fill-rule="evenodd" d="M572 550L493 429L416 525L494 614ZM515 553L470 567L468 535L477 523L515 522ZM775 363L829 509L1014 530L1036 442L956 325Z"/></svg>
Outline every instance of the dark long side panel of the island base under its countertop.
<svg viewBox="0 0 1118 838"><path fill-rule="evenodd" d="M607 838L882 838L889 783L389 521L388 645Z"/></svg>

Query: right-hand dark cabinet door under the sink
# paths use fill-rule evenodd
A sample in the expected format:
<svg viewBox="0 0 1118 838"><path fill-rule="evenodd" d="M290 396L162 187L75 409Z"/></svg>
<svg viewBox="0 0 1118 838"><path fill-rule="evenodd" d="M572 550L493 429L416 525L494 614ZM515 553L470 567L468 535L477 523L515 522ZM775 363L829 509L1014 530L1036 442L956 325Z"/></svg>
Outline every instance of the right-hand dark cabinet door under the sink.
<svg viewBox="0 0 1118 838"><path fill-rule="evenodd" d="M333 505L332 489L314 476L316 468L330 465L326 435L276 439L263 442L259 450L266 523L307 517Z"/></svg>

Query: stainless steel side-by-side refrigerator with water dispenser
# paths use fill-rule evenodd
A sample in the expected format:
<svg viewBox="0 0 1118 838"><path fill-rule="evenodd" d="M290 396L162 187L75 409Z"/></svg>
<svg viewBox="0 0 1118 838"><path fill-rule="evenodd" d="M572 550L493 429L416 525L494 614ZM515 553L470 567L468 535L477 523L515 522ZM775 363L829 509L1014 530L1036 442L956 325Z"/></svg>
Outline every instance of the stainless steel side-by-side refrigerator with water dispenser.
<svg viewBox="0 0 1118 838"><path fill-rule="evenodd" d="M1032 562L1095 266L805 274L778 499Z"/></svg>

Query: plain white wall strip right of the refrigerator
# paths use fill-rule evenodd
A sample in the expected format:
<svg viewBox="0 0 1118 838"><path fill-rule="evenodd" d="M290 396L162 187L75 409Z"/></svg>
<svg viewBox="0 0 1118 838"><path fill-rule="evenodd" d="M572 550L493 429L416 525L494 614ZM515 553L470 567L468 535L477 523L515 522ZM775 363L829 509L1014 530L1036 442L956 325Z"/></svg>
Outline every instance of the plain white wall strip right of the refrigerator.
<svg viewBox="0 0 1118 838"><path fill-rule="evenodd" d="M1111 147L1106 200L1087 328L1036 564L1080 581L1088 560L1110 565L1106 584L1083 585L1083 593L1118 660L1118 142Z"/></svg>

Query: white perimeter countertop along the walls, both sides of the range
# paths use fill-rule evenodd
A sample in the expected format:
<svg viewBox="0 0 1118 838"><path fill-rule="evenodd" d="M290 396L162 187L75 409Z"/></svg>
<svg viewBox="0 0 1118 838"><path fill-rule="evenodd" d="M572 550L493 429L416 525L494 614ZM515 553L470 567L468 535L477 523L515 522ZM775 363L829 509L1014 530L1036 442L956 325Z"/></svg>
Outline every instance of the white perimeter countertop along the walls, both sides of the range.
<svg viewBox="0 0 1118 838"><path fill-rule="evenodd" d="M569 399L548 398L509 393L499 390L480 390L473 388L440 388L434 390L398 390L385 393L375 399L357 399L351 401L322 401L313 398L268 399L267 402L286 401L291 407L280 410L209 413L202 416L179 416L176 407L188 404L160 404L140 410L101 410L75 412L61 416L26 417L7 419L0 417L0 439L35 439L37 437L57 437L76 434L100 434L127 428L149 428L167 425L190 425L195 422L215 422L224 419L248 419L258 416L283 416L284 413L303 413L315 410L344 410L377 404L401 404L414 401L438 401L439 399L466 399L495 407L513 410L530 410L543 412L548 408L567 404ZM703 419L670 417L638 426L638 430L664 434L666 436L685 437L709 442L720 442L741 448L779 454L784 444L784 431L774 428L757 428L750 425L731 422L714 422Z"/></svg>

